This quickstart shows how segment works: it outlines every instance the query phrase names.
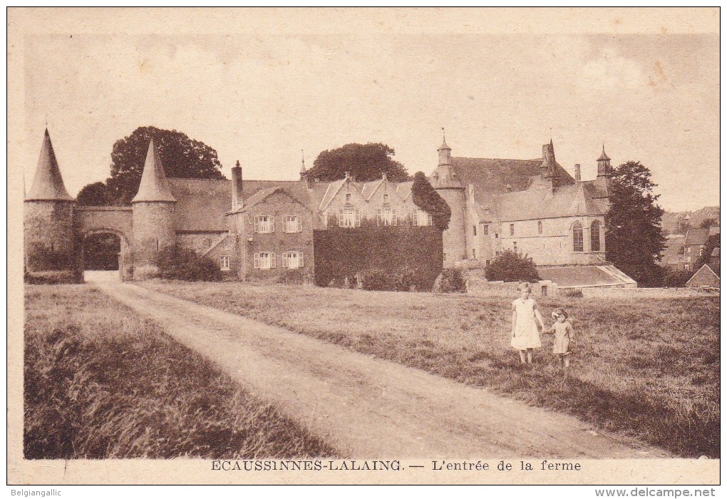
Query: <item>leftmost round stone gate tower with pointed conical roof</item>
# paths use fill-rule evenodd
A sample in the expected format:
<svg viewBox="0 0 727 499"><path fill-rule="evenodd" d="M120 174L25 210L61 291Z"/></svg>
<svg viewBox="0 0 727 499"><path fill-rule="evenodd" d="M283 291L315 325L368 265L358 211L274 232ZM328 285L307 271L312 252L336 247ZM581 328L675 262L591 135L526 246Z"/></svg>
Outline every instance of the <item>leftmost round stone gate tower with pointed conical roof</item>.
<svg viewBox="0 0 727 499"><path fill-rule="evenodd" d="M46 129L33 186L25 196L25 270L28 272L79 269L73 237L75 201L63 177Z"/></svg>

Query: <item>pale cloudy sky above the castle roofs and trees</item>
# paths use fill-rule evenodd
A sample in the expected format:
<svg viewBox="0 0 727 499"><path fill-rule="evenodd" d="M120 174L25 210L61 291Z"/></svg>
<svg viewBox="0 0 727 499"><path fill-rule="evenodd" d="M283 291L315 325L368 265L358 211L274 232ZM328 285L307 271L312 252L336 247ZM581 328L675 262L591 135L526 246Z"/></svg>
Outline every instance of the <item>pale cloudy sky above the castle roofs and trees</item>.
<svg viewBox="0 0 727 499"><path fill-rule="evenodd" d="M553 11L511 32L488 29L500 10L424 12L419 25L406 11L399 28L386 12L378 31L350 15L351 29L316 30L300 11L276 11L287 23L265 29L251 28L270 20L260 11L208 20L215 29L176 14L169 28L125 11L103 29L77 11L41 15L17 39L25 188L46 126L73 196L108 177L113 143L137 127L185 132L217 150L227 177L239 160L245 178L265 180L296 179L302 154L310 167L325 149L368 142L429 174L444 128L453 156L534 159L552 138L584 180L605 145L614 166L651 169L665 209L718 205L718 31L569 32L552 24L568 26L567 12Z"/></svg>

